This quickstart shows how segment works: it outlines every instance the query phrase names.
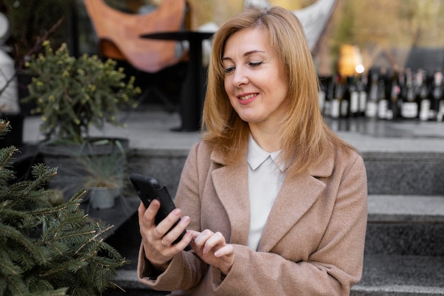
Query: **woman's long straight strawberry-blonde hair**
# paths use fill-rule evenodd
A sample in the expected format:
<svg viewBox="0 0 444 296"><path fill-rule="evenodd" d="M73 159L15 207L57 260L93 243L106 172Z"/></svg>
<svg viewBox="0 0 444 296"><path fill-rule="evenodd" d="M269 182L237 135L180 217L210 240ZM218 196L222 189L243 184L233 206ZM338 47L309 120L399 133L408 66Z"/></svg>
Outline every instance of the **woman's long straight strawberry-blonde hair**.
<svg viewBox="0 0 444 296"><path fill-rule="evenodd" d="M289 105L278 133L282 142L280 159L288 167L287 175L306 172L333 147L353 149L324 121L318 105L318 76L304 30L292 12L278 6L245 9L214 34L201 126L204 141L221 150L228 163L245 155L241 152L247 147L250 130L226 94L222 57L226 40L246 28L265 31L287 75Z"/></svg>

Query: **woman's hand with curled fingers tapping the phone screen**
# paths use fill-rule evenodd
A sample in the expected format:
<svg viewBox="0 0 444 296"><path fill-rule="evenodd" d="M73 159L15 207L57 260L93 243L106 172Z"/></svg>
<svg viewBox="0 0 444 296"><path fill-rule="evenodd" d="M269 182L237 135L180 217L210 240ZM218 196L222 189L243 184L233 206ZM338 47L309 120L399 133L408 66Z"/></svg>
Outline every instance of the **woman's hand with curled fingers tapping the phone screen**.
<svg viewBox="0 0 444 296"><path fill-rule="evenodd" d="M194 242L192 248L197 255L209 265L219 268L227 274L234 262L233 245L226 243L225 237L220 232L214 233L206 229L202 232L191 231Z"/></svg>

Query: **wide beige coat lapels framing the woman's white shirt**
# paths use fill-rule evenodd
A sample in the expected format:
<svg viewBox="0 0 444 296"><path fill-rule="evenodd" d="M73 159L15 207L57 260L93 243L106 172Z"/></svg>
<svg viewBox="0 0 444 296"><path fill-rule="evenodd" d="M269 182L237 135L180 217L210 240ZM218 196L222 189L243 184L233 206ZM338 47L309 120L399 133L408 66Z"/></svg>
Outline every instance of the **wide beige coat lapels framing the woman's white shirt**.
<svg viewBox="0 0 444 296"><path fill-rule="evenodd" d="M242 161L234 165L226 165L223 155L213 150L211 160L221 164L221 168L213 170L211 177L217 196L230 220L230 242L246 245L250 229L246 149L240 159ZM333 153L309 172L298 175L292 180L285 178L262 233L258 251L270 251L282 236L287 234L325 190L325 183L318 180L318 177L328 177L332 172Z"/></svg>

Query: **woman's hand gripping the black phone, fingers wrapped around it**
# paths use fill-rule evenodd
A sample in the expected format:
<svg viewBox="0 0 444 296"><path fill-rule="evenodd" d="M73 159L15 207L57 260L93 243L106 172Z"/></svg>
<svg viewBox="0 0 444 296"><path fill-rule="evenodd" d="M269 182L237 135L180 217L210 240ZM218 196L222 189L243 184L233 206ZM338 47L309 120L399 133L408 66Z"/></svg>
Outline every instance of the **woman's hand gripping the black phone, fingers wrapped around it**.
<svg viewBox="0 0 444 296"><path fill-rule="evenodd" d="M184 235L181 241L172 245L172 242L187 228L189 216L184 216L174 229L167 234L167 231L182 215L182 211L174 209L156 226L154 221L159 208L160 202L157 199L151 202L148 209L145 208L143 203L140 203L138 216L145 257L155 268L163 271L167 268L174 255L182 251L192 241L193 233L187 231L187 234Z"/></svg>

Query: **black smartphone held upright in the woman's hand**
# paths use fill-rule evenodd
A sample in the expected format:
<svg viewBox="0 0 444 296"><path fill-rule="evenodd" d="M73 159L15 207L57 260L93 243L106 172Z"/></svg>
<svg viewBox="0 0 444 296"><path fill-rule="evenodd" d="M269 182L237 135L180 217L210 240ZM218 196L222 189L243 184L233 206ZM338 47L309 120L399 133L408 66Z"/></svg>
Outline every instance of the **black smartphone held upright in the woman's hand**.
<svg viewBox="0 0 444 296"><path fill-rule="evenodd" d="M174 202L171 199L170 193L167 190L167 187L161 185L160 182L158 182L154 177L148 177L140 174L131 174L130 180L133 184L133 187L135 188L135 191L140 197L140 200L143 202L146 208L150 206L152 199L159 200L160 209L157 212L154 221L156 225L159 224L160 221L165 219L168 214L170 214L170 212L172 212L172 210L176 208ZM174 226L179 223L179 221L180 218L177 219L171 229L173 229ZM171 229L169 229L167 233L170 232ZM180 234L180 236L175 241L173 241L172 244L178 243L186 233L187 231L184 230L182 234ZM188 245L187 248L185 248L184 250L191 250L191 246Z"/></svg>

